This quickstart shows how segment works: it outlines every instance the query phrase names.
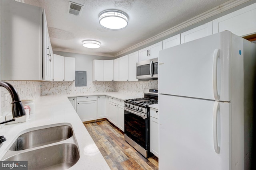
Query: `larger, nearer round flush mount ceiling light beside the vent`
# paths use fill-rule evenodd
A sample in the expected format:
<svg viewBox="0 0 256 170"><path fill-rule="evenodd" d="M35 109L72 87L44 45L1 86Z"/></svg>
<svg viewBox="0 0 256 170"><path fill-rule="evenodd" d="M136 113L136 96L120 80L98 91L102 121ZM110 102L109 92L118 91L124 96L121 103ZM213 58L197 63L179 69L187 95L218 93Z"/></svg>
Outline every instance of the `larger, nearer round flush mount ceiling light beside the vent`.
<svg viewBox="0 0 256 170"><path fill-rule="evenodd" d="M106 29L124 29L128 24L128 16L118 10L107 10L100 13L100 25Z"/></svg>

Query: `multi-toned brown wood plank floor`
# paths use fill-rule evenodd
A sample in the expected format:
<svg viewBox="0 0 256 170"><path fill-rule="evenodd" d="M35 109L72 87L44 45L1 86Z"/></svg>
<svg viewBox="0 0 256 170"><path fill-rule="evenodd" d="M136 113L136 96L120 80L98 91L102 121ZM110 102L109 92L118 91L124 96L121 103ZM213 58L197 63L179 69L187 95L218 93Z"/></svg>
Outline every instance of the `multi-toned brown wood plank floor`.
<svg viewBox="0 0 256 170"><path fill-rule="evenodd" d="M108 121L84 124L112 170L158 170L158 158L144 158L124 141L124 133Z"/></svg>

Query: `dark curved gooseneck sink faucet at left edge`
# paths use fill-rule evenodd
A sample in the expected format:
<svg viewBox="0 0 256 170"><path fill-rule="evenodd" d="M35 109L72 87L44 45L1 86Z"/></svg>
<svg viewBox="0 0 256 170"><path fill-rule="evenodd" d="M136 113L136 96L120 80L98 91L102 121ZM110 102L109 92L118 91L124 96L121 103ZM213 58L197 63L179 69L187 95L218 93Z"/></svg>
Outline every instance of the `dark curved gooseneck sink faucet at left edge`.
<svg viewBox="0 0 256 170"><path fill-rule="evenodd" d="M8 82L0 81L0 86L6 88L10 95L12 96L12 116L13 119L8 121L3 121L0 124L8 123L10 121L15 121L15 118L26 115L25 109L21 103L20 97L16 89Z"/></svg>

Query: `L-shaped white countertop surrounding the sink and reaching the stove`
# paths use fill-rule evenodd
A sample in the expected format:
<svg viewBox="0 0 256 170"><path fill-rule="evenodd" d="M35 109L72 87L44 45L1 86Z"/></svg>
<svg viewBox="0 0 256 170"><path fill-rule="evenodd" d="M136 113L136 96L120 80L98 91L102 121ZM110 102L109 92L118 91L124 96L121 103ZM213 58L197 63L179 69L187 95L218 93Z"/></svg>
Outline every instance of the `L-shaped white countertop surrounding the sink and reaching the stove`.
<svg viewBox="0 0 256 170"><path fill-rule="evenodd" d="M98 95L107 95L121 100L138 97L118 92L91 93L79 96ZM50 126L56 123L70 123L80 152L80 159L70 168L70 170L110 169L67 97L78 96L41 96L35 100L36 112L34 114L30 114L28 121L5 125L2 127L0 129L0 135L4 135L7 140L0 147L0 159L2 159L4 154L19 135L26 133L27 131L31 131L33 128L36 129L36 127L39 126ZM90 153L88 153L86 150L88 148L94 149L94 152L90 150Z"/></svg>

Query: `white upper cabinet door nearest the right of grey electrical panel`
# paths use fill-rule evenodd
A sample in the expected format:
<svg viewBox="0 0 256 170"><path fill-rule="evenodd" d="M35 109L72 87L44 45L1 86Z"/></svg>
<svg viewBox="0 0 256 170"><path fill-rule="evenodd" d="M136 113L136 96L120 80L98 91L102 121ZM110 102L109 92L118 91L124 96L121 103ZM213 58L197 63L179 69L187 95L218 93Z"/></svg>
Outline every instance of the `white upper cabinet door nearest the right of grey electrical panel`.
<svg viewBox="0 0 256 170"><path fill-rule="evenodd" d="M103 81L103 60L92 61L92 81Z"/></svg>

